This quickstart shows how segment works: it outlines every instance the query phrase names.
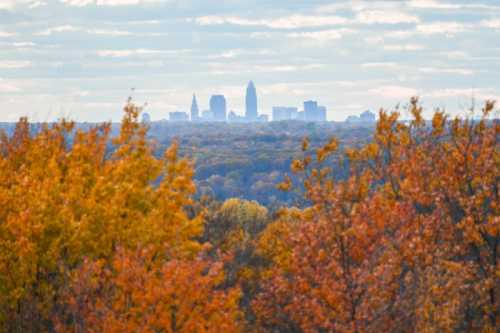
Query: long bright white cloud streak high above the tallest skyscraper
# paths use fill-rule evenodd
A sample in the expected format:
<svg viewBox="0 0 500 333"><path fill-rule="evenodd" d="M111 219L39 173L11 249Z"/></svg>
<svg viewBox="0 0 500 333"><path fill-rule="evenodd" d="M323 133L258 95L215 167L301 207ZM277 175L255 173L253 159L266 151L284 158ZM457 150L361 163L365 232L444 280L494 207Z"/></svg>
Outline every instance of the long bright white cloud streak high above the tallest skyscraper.
<svg viewBox="0 0 500 333"><path fill-rule="evenodd" d="M275 19L247 19L238 16L202 16L195 19L199 25L233 24L241 26L264 26L272 29L314 28L345 24L348 20L340 16L292 15Z"/></svg>

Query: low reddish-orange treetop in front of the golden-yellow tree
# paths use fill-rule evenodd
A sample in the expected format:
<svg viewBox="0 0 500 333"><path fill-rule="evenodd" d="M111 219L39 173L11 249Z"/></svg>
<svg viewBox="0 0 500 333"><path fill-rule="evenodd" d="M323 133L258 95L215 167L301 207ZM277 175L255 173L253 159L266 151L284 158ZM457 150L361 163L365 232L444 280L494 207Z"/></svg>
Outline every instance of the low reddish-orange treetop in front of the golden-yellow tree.
<svg viewBox="0 0 500 333"><path fill-rule="evenodd" d="M56 331L240 331L240 292L219 287L222 263L154 256L119 249L110 266L85 262L65 288Z"/></svg>

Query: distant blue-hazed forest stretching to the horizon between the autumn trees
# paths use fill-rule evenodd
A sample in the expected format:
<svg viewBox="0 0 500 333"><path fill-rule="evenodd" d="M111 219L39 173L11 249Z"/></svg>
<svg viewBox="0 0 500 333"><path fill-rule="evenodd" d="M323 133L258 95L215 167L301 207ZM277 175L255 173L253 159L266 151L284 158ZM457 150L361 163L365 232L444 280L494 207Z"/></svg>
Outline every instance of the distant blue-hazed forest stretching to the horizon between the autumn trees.
<svg viewBox="0 0 500 333"><path fill-rule="evenodd" d="M76 123L88 130L98 124ZM120 131L120 124L110 124L111 136ZM290 172L291 162L300 157L302 139L309 138L312 148L328 142L332 136L342 145L361 146L372 136L374 124L314 123L281 121L234 124L221 122L168 122L147 124L147 137L154 154L161 158L174 142L179 144L179 156L194 162L196 197L202 195L217 201L230 198L255 200L271 210L300 203L295 193L280 191L276 185ZM0 124L12 135L14 124ZM41 124L30 124L36 133ZM112 151L114 147L108 146ZM338 176L340 169L336 170Z"/></svg>

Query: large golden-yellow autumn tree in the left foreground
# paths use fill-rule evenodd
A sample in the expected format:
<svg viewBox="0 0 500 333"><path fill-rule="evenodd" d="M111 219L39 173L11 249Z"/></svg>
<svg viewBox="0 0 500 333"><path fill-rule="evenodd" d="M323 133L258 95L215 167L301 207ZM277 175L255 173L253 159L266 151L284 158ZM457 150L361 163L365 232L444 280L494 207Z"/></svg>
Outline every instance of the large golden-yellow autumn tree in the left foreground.
<svg viewBox="0 0 500 333"><path fill-rule="evenodd" d="M174 286L181 277L205 284L205 294L185 297L201 307L210 306L213 313L208 291L216 292L221 272L216 268L219 264L201 262L204 245L196 239L203 232L203 220L201 216L190 218L184 210L195 191L191 163L178 158L176 144L163 158L155 158L147 128L138 122L139 112L140 108L127 103L120 133L113 139L109 124L83 131L62 121L43 125L33 134L26 119L21 119L11 137L2 135L1 330L46 331L54 328L54 321L59 327L87 322L84 314L68 314L63 309L66 302L78 296L78 288L73 286L78 285L73 278L75 272L95 265L109 272L110 277L102 283L113 290L103 294L105 299L97 295L89 300L97 308L103 302L114 304L125 297L120 295L121 277L150 272L155 276L163 274L167 281L161 283ZM112 150L108 149L110 140ZM119 255L118 249L123 250ZM123 266L114 264L117 256L135 263L132 266L137 272L124 272ZM147 265L143 264L146 259ZM82 266L84 261L87 264ZM188 268L191 262L194 266ZM215 265L213 269L211 265ZM177 266L181 277L174 279L168 272ZM152 286L154 283L160 281L151 281ZM179 292L183 291L186 288L179 285ZM234 298L238 290L223 294L221 302L227 302L220 307L220 315L231 308L233 315L229 317L234 322L228 325L237 326ZM208 298L202 301L205 296ZM125 304L132 309L138 306L133 302ZM128 325L130 317L119 316L124 308L109 309L113 310L118 318L113 323L123 320L120 325ZM94 324L89 321L85 327L102 327Z"/></svg>

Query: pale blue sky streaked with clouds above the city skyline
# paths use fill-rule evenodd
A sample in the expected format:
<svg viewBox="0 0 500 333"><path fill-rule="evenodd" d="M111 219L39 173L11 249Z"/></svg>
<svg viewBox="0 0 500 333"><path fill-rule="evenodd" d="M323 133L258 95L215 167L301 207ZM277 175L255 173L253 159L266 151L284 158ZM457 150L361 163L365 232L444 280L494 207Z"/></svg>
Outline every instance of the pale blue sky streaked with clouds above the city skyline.
<svg viewBox="0 0 500 333"><path fill-rule="evenodd" d="M500 100L500 0L0 0L0 121L153 120L224 94L244 114L317 100L329 120L418 95Z"/></svg>

